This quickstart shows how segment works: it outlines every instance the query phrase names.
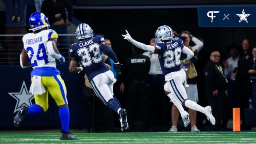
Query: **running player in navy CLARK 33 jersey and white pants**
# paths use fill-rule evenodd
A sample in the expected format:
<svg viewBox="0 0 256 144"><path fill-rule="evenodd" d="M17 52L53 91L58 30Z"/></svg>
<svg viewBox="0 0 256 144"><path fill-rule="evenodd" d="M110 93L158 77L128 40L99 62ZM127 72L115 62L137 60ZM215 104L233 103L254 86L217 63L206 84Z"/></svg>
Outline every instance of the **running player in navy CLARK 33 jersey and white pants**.
<svg viewBox="0 0 256 144"><path fill-rule="evenodd" d="M93 37L92 28L88 24L78 25L76 34L79 42L70 46L72 53L70 72L79 73L84 70L97 97L118 114L122 131L129 130L127 112L113 97L113 85L116 79L102 58L102 51L104 51L114 61L114 70L120 71L121 64L119 64L114 51L104 43L104 37ZM81 63L79 68L77 68L78 61Z"/></svg>

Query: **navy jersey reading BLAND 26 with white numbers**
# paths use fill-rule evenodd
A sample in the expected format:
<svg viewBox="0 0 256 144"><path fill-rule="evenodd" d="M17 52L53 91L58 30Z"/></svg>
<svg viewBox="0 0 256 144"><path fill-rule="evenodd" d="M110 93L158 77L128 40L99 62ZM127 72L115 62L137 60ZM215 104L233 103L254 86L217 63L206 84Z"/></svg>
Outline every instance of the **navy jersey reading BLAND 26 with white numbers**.
<svg viewBox="0 0 256 144"><path fill-rule="evenodd" d="M166 43L157 43L155 47L159 49L162 55L161 58L159 58L159 62L164 75L181 70L180 59L183 48L183 42L181 39L174 38Z"/></svg>

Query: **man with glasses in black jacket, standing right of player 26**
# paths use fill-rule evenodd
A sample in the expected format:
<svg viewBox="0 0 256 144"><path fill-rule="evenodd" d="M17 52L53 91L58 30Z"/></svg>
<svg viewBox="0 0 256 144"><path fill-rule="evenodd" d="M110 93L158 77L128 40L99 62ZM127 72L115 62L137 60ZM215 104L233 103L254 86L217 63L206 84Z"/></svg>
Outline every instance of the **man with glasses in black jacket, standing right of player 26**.
<svg viewBox="0 0 256 144"><path fill-rule="evenodd" d="M211 130L218 130L221 124L221 112L223 108L223 98L228 95L227 79L220 61L220 53L218 51L211 52L210 60L205 65L205 95L208 104L211 106L213 116L216 119L215 126L210 127Z"/></svg>

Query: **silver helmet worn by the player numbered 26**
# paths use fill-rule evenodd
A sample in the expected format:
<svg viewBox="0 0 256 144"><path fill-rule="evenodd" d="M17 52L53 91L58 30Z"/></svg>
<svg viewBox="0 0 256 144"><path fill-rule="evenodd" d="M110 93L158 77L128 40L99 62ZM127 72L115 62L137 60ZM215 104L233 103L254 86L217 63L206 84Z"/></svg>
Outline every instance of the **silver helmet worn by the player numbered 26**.
<svg viewBox="0 0 256 144"><path fill-rule="evenodd" d="M170 28L170 26L161 25L157 28L155 36L157 43L161 42L162 40L172 40L173 30Z"/></svg>

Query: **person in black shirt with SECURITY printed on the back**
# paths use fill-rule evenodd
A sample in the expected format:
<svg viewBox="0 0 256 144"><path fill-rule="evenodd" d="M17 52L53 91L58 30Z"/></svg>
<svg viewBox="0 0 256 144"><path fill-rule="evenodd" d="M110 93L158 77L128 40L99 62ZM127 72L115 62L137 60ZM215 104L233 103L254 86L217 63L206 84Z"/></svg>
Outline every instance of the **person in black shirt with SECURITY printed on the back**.
<svg viewBox="0 0 256 144"><path fill-rule="evenodd" d="M128 88L126 96L127 115L131 131L146 131L149 117L149 84L148 72L150 59L142 55L142 50L132 47L133 55L127 57ZM136 122L142 121L139 125ZM142 127L139 127L142 126Z"/></svg>

